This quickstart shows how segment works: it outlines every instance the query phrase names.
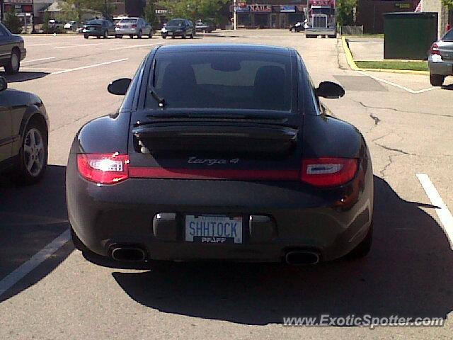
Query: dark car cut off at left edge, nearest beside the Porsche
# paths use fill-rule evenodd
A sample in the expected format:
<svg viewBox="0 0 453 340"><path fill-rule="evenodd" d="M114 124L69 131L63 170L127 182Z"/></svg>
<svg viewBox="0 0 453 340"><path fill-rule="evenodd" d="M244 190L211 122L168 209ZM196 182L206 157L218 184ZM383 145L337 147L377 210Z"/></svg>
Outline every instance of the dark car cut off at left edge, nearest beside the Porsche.
<svg viewBox="0 0 453 340"><path fill-rule="evenodd" d="M0 77L0 172L36 183L47 167L49 118L41 99Z"/></svg>

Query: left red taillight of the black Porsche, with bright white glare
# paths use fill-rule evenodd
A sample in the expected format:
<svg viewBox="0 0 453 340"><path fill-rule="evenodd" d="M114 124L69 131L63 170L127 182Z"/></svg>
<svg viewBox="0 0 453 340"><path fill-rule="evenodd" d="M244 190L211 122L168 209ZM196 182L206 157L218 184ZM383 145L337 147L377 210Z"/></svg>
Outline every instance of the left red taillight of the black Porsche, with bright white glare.
<svg viewBox="0 0 453 340"><path fill-rule="evenodd" d="M77 154L77 166L84 179L95 183L115 184L129 178L127 154Z"/></svg>

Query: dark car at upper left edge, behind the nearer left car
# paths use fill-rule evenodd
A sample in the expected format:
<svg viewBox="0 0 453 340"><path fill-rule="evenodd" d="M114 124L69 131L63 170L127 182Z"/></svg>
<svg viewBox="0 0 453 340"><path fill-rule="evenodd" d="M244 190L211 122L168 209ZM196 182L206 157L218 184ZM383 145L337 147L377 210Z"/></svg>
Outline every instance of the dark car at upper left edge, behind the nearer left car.
<svg viewBox="0 0 453 340"><path fill-rule="evenodd" d="M0 67L4 67L7 74L16 74L26 55L23 38L13 35L0 23Z"/></svg>

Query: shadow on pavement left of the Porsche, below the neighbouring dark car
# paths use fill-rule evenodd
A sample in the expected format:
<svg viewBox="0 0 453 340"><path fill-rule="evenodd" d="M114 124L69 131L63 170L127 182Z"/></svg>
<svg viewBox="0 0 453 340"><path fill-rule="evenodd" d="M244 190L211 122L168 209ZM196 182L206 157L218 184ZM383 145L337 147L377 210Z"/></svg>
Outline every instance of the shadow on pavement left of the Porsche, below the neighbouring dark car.
<svg viewBox="0 0 453 340"><path fill-rule="evenodd" d="M33 186L18 186L8 176L0 179L0 281L69 228L65 172L65 166L48 166L42 181ZM73 250L67 242L45 265L0 295L0 302L45 278Z"/></svg>

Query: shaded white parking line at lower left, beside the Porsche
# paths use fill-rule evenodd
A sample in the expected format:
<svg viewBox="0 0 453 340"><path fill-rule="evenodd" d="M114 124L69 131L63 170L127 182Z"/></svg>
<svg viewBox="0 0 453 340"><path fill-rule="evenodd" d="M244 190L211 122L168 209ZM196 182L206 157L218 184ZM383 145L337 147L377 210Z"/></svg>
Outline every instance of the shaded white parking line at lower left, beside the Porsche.
<svg viewBox="0 0 453 340"><path fill-rule="evenodd" d="M25 277L28 273L30 273L30 271L33 271L33 269L52 256L52 254L64 246L69 239L71 239L71 232L69 232L68 229L66 232L63 232L59 235L59 237L50 242L50 244L47 244L47 246L38 251L38 253L33 255L31 259L23 263L22 266L8 274L8 276L0 281L0 296L3 295L6 290L18 283L19 280Z"/></svg>

